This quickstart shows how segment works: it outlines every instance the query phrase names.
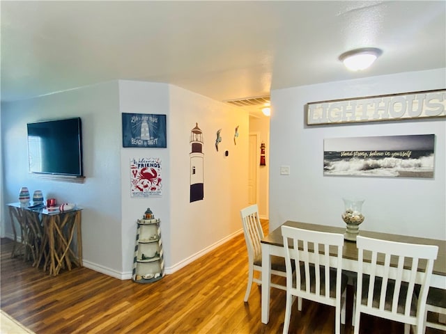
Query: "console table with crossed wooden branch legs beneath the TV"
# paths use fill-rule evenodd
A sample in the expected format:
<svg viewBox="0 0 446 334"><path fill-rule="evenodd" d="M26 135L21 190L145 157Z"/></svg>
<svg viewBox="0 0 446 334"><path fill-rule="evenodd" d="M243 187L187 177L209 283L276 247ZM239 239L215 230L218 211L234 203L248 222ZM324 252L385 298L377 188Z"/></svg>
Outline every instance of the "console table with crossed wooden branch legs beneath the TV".
<svg viewBox="0 0 446 334"><path fill-rule="evenodd" d="M52 276L61 269L71 270L73 265L82 267L82 208L48 211L46 207L25 207L19 202L8 207L15 242L12 257L23 253L24 260L33 260L36 267L43 264L43 271ZM14 219L20 226L20 242Z"/></svg>

